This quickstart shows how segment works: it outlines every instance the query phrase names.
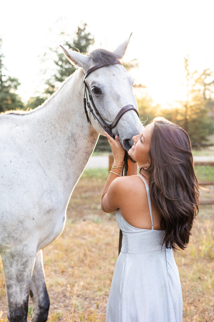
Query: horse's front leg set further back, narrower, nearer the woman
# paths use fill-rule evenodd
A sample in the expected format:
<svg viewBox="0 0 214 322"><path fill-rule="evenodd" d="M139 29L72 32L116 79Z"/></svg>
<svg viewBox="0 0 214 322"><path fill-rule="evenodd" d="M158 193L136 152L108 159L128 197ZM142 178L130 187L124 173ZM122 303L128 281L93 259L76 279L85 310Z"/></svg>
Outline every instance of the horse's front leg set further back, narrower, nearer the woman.
<svg viewBox="0 0 214 322"><path fill-rule="evenodd" d="M31 322L46 322L50 301L45 284L42 251L38 251L36 254L36 261L30 282L30 297L33 301L33 316Z"/></svg>

